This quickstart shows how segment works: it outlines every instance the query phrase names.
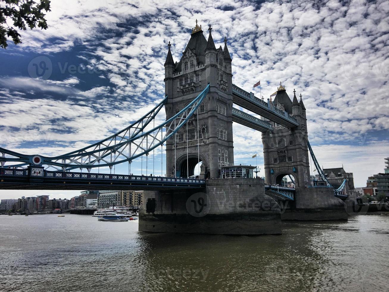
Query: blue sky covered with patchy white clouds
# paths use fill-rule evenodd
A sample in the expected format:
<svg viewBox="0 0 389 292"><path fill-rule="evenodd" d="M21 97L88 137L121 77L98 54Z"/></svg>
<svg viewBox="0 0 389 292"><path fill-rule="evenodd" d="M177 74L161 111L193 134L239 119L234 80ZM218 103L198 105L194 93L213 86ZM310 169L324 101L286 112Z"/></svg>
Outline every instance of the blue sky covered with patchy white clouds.
<svg viewBox="0 0 389 292"><path fill-rule="evenodd" d="M321 165L343 164L356 186L384 169L389 1L68 0L51 10L49 29L23 31L22 44L0 50L4 148L58 155L137 120L163 98L167 42L178 61L198 19L212 25L216 47L227 36L233 83L250 91L260 79L265 99L280 81L290 97L293 88L303 95ZM46 74L33 64L47 64ZM260 135L234 123L235 163L255 164L258 153L263 168ZM160 152L155 165L159 175ZM140 162L132 167L141 172ZM3 190L0 199L37 192Z"/></svg>

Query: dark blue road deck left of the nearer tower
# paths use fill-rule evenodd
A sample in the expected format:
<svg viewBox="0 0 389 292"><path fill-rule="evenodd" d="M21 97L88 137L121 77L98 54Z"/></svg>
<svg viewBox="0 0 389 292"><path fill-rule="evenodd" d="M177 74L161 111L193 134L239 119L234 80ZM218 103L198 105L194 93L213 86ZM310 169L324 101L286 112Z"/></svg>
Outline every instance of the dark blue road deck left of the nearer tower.
<svg viewBox="0 0 389 292"><path fill-rule="evenodd" d="M204 179L46 170L42 176L29 176L28 169L0 168L2 190L176 190L204 187Z"/></svg>

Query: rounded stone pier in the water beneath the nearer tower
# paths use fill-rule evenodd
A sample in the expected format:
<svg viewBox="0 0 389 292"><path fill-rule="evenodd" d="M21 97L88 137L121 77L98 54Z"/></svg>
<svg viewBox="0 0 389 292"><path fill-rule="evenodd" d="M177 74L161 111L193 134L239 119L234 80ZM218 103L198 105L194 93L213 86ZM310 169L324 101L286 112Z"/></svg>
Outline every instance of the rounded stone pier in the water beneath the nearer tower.
<svg viewBox="0 0 389 292"><path fill-rule="evenodd" d="M140 231L282 233L280 207L265 194L263 179L209 179L201 192L145 191L144 197L146 204L139 214Z"/></svg>

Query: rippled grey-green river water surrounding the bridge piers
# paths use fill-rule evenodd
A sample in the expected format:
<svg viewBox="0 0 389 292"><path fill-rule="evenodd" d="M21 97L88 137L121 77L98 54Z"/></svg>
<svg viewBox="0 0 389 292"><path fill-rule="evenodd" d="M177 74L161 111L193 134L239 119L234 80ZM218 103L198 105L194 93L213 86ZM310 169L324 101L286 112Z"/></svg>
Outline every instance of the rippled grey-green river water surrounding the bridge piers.
<svg viewBox="0 0 389 292"><path fill-rule="evenodd" d="M0 216L0 291L388 291L389 216L279 236L147 234L138 221Z"/></svg>

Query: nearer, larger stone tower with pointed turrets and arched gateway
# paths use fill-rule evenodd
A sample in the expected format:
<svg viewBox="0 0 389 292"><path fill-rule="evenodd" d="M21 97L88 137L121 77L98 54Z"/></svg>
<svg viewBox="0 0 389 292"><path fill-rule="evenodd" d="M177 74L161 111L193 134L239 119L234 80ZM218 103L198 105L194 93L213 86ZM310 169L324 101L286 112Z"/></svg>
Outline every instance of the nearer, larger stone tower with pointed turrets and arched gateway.
<svg viewBox="0 0 389 292"><path fill-rule="evenodd" d="M166 120L195 99L208 83L210 90L198 109L198 116L194 114L187 128L180 128L175 141L171 138L166 142L166 176L191 176L200 160L203 163L200 176L218 178L219 167L234 161L232 60L227 39L224 38L224 49L221 46L216 49L212 28L209 26L208 30L207 40L196 20L178 63L173 61L170 42L168 44L164 79L168 95Z"/></svg>

